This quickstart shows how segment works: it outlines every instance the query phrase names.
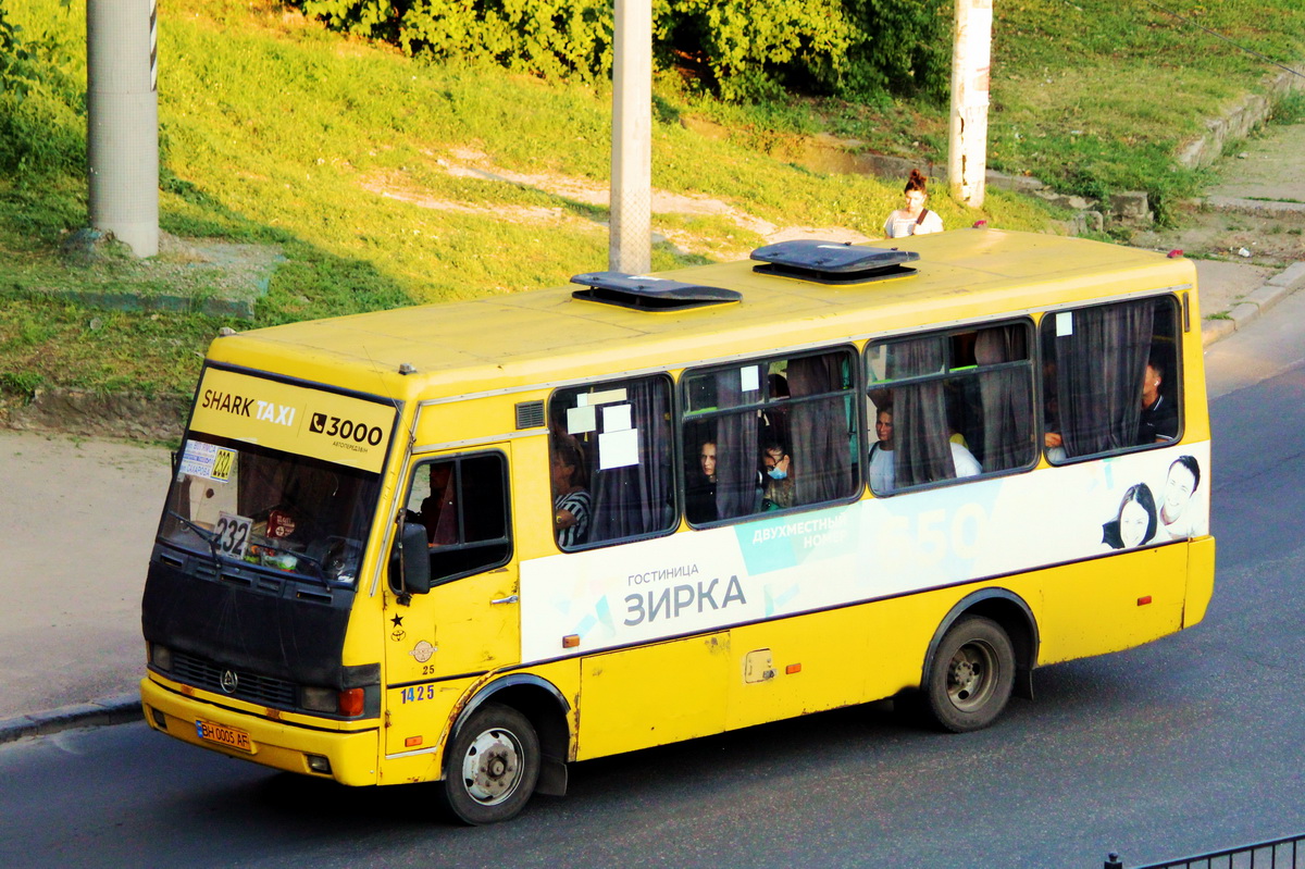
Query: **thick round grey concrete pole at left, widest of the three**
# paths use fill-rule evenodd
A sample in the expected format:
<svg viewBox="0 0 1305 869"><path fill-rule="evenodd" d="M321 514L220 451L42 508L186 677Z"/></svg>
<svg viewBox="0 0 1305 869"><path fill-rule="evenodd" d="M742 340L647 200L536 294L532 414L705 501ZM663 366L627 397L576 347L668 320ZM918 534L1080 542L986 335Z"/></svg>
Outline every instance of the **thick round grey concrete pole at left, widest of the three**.
<svg viewBox="0 0 1305 869"><path fill-rule="evenodd" d="M138 257L159 251L155 0L86 0L90 223Z"/></svg>

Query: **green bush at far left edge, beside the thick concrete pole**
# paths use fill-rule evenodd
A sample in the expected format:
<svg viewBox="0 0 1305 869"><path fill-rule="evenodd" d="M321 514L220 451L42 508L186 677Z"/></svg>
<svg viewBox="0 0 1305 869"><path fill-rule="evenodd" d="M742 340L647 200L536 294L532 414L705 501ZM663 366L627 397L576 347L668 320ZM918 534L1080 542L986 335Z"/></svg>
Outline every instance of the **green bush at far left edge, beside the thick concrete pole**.
<svg viewBox="0 0 1305 869"><path fill-rule="evenodd" d="M29 39L0 8L0 171L80 172L86 164L86 97L64 68L63 44Z"/></svg>

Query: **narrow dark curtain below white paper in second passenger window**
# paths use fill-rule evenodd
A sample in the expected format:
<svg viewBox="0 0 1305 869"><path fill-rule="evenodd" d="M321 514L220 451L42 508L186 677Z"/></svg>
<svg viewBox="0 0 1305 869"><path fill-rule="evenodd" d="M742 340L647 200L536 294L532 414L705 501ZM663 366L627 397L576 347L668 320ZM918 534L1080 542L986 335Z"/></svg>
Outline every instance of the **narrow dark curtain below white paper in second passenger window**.
<svg viewBox="0 0 1305 869"><path fill-rule="evenodd" d="M761 398L758 365L727 368L715 374L720 408L753 404ZM750 389L744 389L748 386ZM756 410L726 414L716 420L716 518L732 519L761 506L760 415Z"/></svg>

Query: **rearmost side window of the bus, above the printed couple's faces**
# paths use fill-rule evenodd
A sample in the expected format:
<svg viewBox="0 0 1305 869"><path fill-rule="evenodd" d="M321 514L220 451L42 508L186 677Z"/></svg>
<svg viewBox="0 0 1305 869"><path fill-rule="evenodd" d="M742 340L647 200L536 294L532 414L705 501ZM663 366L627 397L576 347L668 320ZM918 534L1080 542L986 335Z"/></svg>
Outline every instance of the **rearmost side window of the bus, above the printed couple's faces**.
<svg viewBox="0 0 1305 869"><path fill-rule="evenodd" d="M1041 343L1048 461L1178 438L1182 393L1173 296L1047 313Z"/></svg>

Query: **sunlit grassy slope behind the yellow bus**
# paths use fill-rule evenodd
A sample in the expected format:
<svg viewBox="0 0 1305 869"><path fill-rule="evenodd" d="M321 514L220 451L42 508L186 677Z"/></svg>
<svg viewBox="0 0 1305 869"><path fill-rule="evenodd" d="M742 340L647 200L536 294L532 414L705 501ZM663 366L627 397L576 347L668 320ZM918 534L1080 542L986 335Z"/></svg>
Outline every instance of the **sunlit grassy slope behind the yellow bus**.
<svg viewBox="0 0 1305 869"><path fill-rule="evenodd" d="M1186 37L1161 22L1142 27L1142 39L1134 8L1144 8L1141 0L1122 12L1088 8L1087 0L1078 7L1065 0L996 5L992 149L994 162L1007 170L1048 177L1065 170L1075 183L1113 184L1113 176L1100 181L1094 172L1114 172L1112 160L1135 167L1137 154L1147 155L1144 166L1151 155L1163 162L1202 115L1251 87L1262 72L1223 55L1215 57L1215 72L1177 65ZM1174 5L1195 7L1186 0ZM1224 5L1232 13L1225 16ZM59 0L7 7L29 33L61 40L68 67L84 67L78 8L64 9ZM1225 0L1210 25L1228 25L1279 55L1298 48L1274 33L1250 33L1237 7L1250 8ZM1282 7L1283 31L1301 33L1300 0L1268 0L1268 7ZM1245 21L1274 20L1265 3L1257 9ZM1155 17L1146 14L1147 21ZM1108 27L1096 26L1101 18ZM1152 48L1163 48L1164 63L1150 64ZM1202 53L1191 59L1214 53L1202 43ZM270 0L177 0L162 12L159 67L163 230L275 243L288 257L253 325L510 292L606 265L607 235L595 223L606 209L532 187L454 177L441 167L471 150L500 170L603 184L609 123L603 90L412 61L329 34ZM1156 91L1164 99L1143 98L1131 85L1130 76L1146 74L1164 89ZM1190 102L1177 104L1174 89L1190 91ZM844 226L874 235L899 194L897 183L826 177L791 166L784 157L790 132L825 128L863 137L877 150L944 155L946 117L938 107L795 100L740 110L692 98L671 78L658 91L654 184L723 200L778 226ZM1112 91L1117 95L1107 99ZM737 134L723 142L702 138L675 123L677 111L715 115ZM1104 157L1084 147L1092 141L1103 142ZM461 210L386 198L364 189L367 184L419 191ZM934 197L933 205L950 226L980 217L946 197ZM495 213L513 207L552 211L512 219ZM1037 207L1000 192L990 193L983 217L1017 227L1045 219ZM149 267L134 261L90 274L54 256L61 232L84 222L80 179L0 179L0 390L12 401L52 385L189 389L197 354L221 321L95 311L34 292L104 282L149 287ZM715 258L760 243L720 217L659 215L655 224L686 232L694 251ZM659 245L654 267L701 258Z"/></svg>

